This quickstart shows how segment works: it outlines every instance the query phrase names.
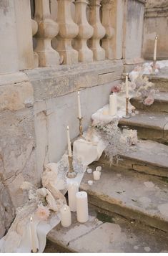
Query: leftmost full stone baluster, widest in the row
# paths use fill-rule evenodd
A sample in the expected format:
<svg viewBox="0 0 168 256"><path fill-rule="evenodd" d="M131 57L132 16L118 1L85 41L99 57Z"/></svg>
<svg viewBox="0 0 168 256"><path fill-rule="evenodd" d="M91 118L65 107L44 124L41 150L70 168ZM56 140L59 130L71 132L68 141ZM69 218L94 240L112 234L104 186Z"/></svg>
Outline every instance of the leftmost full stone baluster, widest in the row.
<svg viewBox="0 0 168 256"><path fill-rule="evenodd" d="M36 49L39 67L59 65L59 53L51 47L51 39L59 32L59 26L51 19L49 0L35 0L34 19L38 23Z"/></svg>

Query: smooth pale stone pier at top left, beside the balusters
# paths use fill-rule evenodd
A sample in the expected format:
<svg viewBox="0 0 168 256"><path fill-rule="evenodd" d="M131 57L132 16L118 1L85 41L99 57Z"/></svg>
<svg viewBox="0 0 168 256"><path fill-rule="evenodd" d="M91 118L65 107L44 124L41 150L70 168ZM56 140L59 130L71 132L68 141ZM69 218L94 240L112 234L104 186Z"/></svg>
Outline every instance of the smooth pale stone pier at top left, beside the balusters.
<svg viewBox="0 0 168 256"><path fill-rule="evenodd" d="M0 1L0 74L34 67L29 0Z"/></svg>

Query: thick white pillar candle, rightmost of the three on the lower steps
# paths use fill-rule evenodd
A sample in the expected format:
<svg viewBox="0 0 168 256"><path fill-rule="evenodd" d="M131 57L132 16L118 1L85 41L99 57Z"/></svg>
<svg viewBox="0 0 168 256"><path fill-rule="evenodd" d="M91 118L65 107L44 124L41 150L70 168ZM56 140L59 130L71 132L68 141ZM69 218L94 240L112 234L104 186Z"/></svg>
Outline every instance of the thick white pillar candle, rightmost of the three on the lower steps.
<svg viewBox="0 0 168 256"><path fill-rule="evenodd" d="M76 214L78 222L84 223L89 219L87 192L76 193Z"/></svg>

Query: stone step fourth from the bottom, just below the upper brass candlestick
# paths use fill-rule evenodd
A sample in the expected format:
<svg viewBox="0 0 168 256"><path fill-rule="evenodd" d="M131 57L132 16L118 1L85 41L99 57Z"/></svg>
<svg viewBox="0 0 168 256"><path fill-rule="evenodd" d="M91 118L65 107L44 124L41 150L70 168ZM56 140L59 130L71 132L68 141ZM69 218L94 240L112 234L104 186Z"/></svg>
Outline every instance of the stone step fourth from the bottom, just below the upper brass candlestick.
<svg viewBox="0 0 168 256"><path fill-rule="evenodd" d="M131 118L119 120L119 126L127 126L137 130L138 138L144 140L168 142L168 114L139 111Z"/></svg>

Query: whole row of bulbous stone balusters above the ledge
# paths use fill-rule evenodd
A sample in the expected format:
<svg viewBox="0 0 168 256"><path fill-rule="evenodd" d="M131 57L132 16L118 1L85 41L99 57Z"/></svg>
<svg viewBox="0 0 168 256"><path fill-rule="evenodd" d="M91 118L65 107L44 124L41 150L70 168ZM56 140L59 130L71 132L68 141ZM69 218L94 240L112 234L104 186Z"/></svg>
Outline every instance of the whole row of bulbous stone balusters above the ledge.
<svg viewBox="0 0 168 256"><path fill-rule="evenodd" d="M39 67L114 58L112 52L114 29L111 24L114 0L54 1L57 11L54 17L52 14L53 19L51 19L49 1L35 0L34 21L38 24L38 30L34 32L36 33L34 52L39 55ZM100 8L102 8L102 16L100 16ZM55 49L51 47L52 39L56 40ZM36 67L35 54L34 57Z"/></svg>

